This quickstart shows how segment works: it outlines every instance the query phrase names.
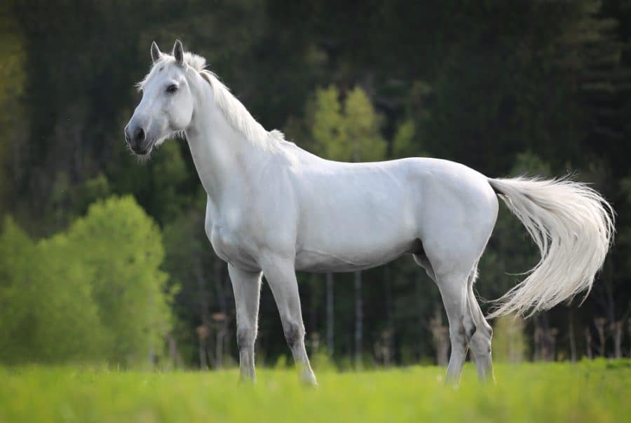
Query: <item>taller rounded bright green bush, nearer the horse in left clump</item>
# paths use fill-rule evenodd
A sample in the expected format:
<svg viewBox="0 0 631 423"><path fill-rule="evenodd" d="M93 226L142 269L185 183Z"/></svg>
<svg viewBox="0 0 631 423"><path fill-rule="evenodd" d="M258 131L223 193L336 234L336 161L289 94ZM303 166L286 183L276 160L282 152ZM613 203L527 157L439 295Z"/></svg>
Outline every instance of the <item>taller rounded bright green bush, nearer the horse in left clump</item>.
<svg viewBox="0 0 631 423"><path fill-rule="evenodd" d="M93 271L93 298L107 331L107 356L117 363L144 361L170 328L167 275L160 230L132 197L90 206L74 222L69 242ZM157 351L156 351L157 352Z"/></svg>

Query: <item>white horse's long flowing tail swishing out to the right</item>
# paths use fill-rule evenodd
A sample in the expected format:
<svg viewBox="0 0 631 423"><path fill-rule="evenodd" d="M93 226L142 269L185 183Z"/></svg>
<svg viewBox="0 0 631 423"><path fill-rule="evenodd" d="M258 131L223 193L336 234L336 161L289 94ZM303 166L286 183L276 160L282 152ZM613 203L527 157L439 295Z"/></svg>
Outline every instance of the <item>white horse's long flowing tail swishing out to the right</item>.
<svg viewBox="0 0 631 423"><path fill-rule="evenodd" d="M585 291L602 268L613 240L614 212L585 183L569 179L489 179L541 252L527 277L496 301L489 318L530 316ZM583 298L585 300L585 298Z"/></svg>

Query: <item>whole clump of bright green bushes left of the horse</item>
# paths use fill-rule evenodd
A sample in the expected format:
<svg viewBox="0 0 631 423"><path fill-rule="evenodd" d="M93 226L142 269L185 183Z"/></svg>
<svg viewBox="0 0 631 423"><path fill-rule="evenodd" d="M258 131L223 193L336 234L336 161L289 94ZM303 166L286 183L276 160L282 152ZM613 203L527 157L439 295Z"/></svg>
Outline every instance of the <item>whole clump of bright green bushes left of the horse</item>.
<svg viewBox="0 0 631 423"><path fill-rule="evenodd" d="M161 349L161 235L133 198L97 202L39 242L6 219L0 251L0 361L132 364Z"/></svg>

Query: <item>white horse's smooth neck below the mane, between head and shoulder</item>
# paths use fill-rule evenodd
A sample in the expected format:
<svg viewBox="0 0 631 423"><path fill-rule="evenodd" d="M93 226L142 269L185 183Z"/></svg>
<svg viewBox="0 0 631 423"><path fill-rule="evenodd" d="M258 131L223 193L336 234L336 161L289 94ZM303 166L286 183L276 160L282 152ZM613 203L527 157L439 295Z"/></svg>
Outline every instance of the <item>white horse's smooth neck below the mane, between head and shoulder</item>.
<svg viewBox="0 0 631 423"><path fill-rule="evenodd" d="M191 125L186 129L193 162L201 183L214 204L220 204L226 189L252 179L269 153L253 145L235 130L219 110L210 86L201 81Z"/></svg>

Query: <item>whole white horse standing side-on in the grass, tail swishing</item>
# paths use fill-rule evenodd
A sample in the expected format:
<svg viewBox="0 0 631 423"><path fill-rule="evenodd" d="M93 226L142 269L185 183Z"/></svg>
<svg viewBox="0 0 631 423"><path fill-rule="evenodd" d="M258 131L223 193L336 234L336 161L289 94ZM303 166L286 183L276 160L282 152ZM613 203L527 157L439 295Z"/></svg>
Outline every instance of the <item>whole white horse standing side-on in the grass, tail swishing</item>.
<svg viewBox="0 0 631 423"><path fill-rule="evenodd" d="M437 284L457 384L468 348L480 379L493 377L491 326L473 294L477 263L498 214L497 195L541 250L541 261L499 299L491 317L546 310L589 291L613 236L603 198L566 179L491 179L433 158L345 163L268 132L203 57L151 45L153 66L125 139L147 156L184 135L208 193L205 230L228 263L241 377L255 378L259 291L265 276L301 379L315 384L304 347L296 270L348 272L412 254Z"/></svg>

